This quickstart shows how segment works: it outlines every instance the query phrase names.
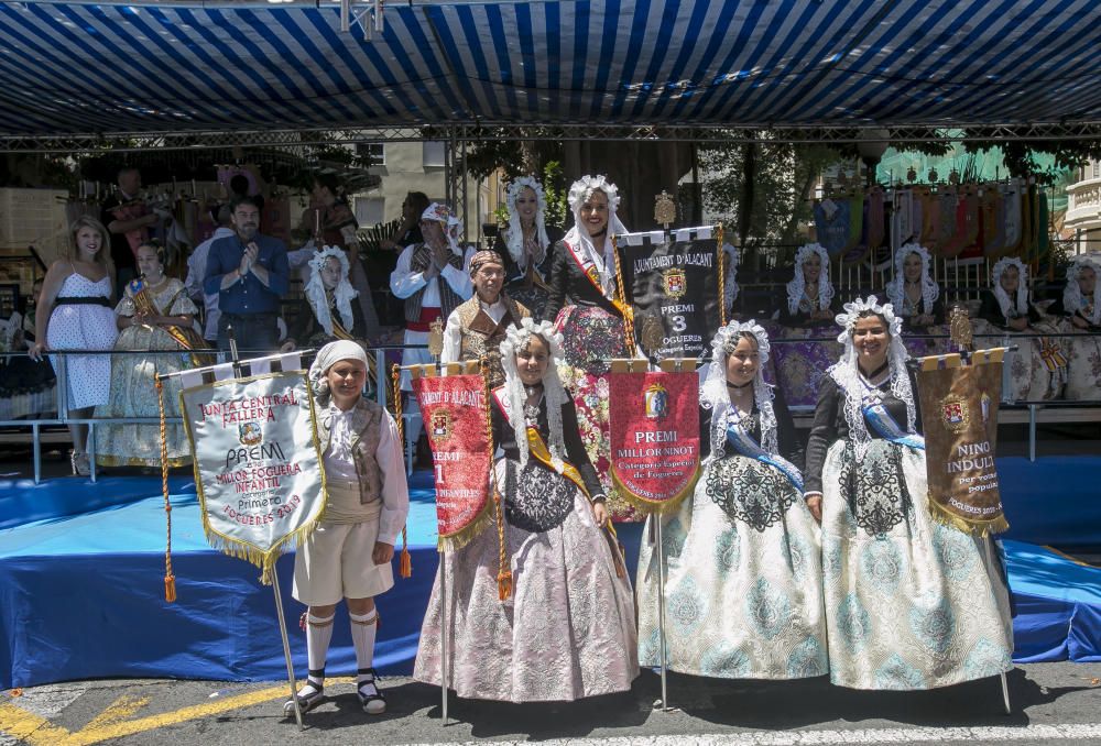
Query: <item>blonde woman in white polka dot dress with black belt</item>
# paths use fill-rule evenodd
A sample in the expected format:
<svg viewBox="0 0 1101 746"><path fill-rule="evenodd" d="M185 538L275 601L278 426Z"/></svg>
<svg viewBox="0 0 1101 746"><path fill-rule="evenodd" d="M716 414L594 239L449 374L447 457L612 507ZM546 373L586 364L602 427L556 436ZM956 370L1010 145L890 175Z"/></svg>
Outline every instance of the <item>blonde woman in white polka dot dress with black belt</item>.
<svg viewBox="0 0 1101 746"><path fill-rule="evenodd" d="M110 350L119 330L115 323L111 298L110 241L107 229L94 218L79 218L69 231L70 254L55 261L42 284L35 311L41 329L39 342L30 355L41 360L47 350ZM61 360L53 361L59 370ZM111 359L109 355L66 355L68 414L74 419L91 417L98 404L110 397ZM89 471L88 427L69 425L73 436L73 473Z"/></svg>

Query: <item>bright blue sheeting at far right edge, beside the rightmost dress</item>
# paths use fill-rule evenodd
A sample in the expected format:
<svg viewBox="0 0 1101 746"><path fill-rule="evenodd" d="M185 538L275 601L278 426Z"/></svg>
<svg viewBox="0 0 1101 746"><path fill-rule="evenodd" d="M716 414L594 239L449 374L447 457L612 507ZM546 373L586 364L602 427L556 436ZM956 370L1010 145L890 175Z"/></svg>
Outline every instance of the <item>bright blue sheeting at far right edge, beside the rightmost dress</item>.
<svg viewBox="0 0 1101 746"><path fill-rule="evenodd" d="M1044 547L1005 541L1014 660L1101 662L1101 569Z"/></svg>

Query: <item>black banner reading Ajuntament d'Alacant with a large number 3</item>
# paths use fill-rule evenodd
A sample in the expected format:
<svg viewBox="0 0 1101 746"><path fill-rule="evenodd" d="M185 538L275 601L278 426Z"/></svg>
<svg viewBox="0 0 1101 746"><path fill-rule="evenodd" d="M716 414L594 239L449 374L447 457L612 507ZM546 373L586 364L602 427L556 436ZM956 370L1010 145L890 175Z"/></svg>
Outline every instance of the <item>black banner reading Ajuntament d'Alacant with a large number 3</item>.
<svg viewBox="0 0 1101 746"><path fill-rule="evenodd" d="M624 299L634 309L635 342L651 360L710 354L722 326L721 248L711 228L615 237Z"/></svg>

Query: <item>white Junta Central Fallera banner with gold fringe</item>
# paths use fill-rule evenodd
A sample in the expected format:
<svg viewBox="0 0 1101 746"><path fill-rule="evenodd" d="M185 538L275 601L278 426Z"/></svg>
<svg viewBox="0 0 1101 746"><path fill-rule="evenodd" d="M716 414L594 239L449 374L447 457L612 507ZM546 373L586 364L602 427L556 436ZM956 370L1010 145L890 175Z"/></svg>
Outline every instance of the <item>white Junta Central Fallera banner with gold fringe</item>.
<svg viewBox="0 0 1101 746"><path fill-rule="evenodd" d="M325 508L305 372L192 386L179 404L207 540L262 568L261 582L270 583L275 560L309 535Z"/></svg>

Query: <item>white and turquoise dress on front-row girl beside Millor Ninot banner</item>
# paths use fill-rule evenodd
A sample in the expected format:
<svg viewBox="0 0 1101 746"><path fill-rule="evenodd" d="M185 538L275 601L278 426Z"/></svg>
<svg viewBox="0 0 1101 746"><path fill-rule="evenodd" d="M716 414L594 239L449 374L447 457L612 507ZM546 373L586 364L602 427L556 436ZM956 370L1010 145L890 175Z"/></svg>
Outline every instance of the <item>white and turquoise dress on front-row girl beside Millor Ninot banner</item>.
<svg viewBox="0 0 1101 746"><path fill-rule="evenodd" d="M802 448L778 391L773 407L784 456L762 447L755 406L744 417L728 407L722 449L705 460L695 494L663 518L671 670L730 679L827 672L818 525L803 500ZM702 421L708 443L710 410ZM661 662L657 572L644 538L639 657L648 667Z"/></svg>

